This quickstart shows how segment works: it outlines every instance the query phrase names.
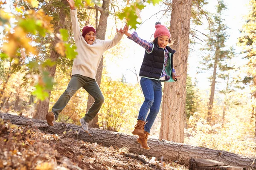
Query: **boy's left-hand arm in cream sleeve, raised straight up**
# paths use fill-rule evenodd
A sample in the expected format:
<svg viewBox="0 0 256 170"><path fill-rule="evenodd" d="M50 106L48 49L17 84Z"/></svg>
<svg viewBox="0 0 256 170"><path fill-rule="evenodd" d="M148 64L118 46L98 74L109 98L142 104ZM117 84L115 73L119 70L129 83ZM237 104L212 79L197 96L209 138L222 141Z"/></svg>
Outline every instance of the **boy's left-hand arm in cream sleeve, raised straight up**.
<svg viewBox="0 0 256 170"><path fill-rule="evenodd" d="M74 0L67 0L67 2L70 5L70 15L71 15L71 23L72 23L72 29L74 34L75 42L78 40L79 36L81 35L80 26L77 18L77 11L75 8L75 2Z"/></svg>

